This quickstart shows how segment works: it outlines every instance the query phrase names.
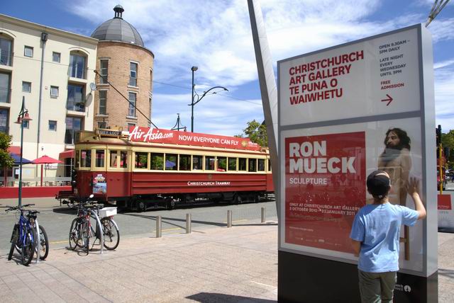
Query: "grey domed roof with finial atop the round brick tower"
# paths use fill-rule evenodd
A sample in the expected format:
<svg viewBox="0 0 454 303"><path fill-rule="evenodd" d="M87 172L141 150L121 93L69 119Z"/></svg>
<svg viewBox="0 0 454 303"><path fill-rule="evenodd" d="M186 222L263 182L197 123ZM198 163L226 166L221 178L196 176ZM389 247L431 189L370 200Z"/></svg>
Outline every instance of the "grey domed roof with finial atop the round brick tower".
<svg viewBox="0 0 454 303"><path fill-rule="evenodd" d="M143 40L133 25L124 21L122 18L123 7L117 5L114 7L114 18L102 23L92 33L92 38L98 40L121 41L143 47Z"/></svg>

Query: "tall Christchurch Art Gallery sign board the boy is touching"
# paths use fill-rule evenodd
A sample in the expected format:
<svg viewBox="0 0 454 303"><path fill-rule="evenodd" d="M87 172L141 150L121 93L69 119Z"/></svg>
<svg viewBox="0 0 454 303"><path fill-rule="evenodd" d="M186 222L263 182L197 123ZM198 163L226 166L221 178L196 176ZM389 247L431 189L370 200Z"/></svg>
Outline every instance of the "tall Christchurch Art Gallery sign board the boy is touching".
<svg viewBox="0 0 454 303"><path fill-rule="evenodd" d="M389 201L427 218L402 228L394 302L436 302L437 204L431 36L423 25L278 62L279 300L359 302L353 218L387 171ZM390 137L397 142L390 142Z"/></svg>

